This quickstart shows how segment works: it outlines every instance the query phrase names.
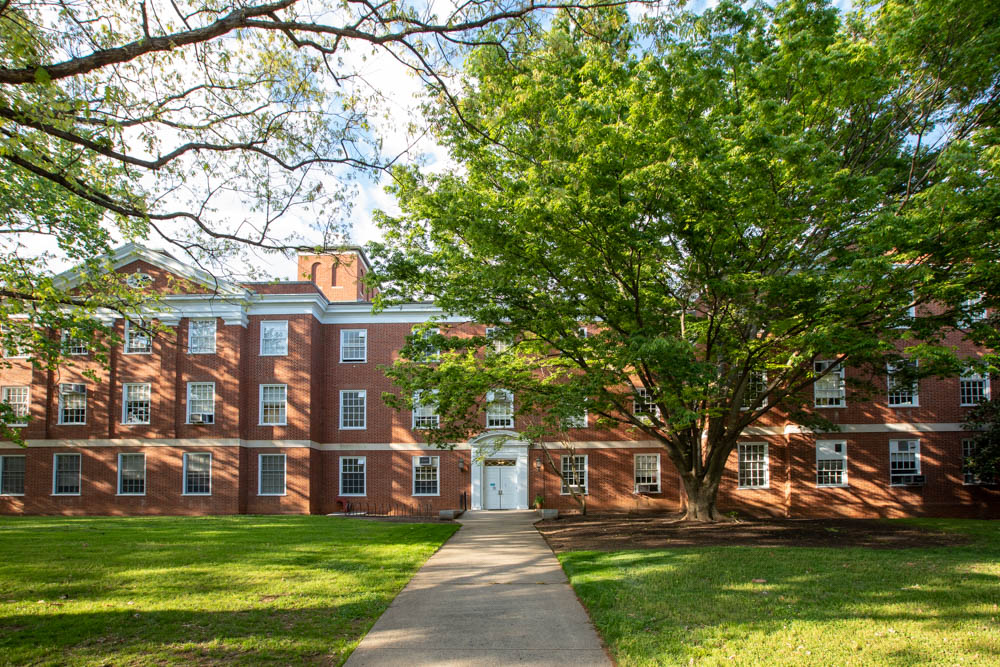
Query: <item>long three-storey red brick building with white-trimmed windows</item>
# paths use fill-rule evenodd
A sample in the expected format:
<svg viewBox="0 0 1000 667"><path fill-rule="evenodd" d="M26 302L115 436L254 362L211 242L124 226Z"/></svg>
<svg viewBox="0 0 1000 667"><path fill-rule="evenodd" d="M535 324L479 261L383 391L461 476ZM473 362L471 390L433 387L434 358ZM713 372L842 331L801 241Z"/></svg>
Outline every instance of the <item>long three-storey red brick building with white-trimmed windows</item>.
<svg viewBox="0 0 1000 667"><path fill-rule="evenodd" d="M31 418L26 448L0 443L0 513L435 511L463 494L473 508L523 508L537 495L546 507L575 507L502 400L453 451L422 444L432 409L382 403L392 386L379 366L440 313L417 303L373 314L360 249L340 261L300 256L309 280L246 285L135 245L112 261L162 295L166 331L116 320L124 344L107 369L73 341L73 363L56 372L7 355L0 400ZM996 389L988 378L927 379L861 401L834 374L814 401L841 430L805 432L768 415L733 452L719 505L796 517L1000 516L997 487L963 471L961 430L968 405ZM550 451L572 467L590 508L680 508L679 479L654 442L586 416L570 434L572 454Z"/></svg>

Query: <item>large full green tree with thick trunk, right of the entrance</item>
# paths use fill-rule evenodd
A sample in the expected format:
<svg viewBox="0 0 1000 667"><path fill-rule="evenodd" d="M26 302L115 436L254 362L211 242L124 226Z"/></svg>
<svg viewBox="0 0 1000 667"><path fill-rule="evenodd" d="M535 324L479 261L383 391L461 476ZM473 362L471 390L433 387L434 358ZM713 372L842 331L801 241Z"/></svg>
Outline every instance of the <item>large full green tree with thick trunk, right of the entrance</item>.
<svg viewBox="0 0 1000 667"><path fill-rule="evenodd" d="M372 252L384 299L510 346L441 325L440 362L412 340L387 401L436 391L442 446L481 428L493 387L537 439L587 409L662 445L686 516L715 520L745 429L834 429L809 390L838 367L884 395L890 366L973 363L954 343L995 337L975 315L1000 295L1000 21L981 10L723 2L472 49L461 114L431 110L459 168L397 169L403 214Z"/></svg>

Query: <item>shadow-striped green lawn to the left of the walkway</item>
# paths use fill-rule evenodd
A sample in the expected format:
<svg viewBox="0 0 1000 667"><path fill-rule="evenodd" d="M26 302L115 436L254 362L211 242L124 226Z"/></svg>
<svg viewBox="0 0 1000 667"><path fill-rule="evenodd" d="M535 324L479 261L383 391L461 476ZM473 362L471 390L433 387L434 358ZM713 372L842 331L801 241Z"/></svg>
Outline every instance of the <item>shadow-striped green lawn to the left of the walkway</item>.
<svg viewBox="0 0 1000 667"><path fill-rule="evenodd" d="M339 664L457 529L0 518L0 664Z"/></svg>

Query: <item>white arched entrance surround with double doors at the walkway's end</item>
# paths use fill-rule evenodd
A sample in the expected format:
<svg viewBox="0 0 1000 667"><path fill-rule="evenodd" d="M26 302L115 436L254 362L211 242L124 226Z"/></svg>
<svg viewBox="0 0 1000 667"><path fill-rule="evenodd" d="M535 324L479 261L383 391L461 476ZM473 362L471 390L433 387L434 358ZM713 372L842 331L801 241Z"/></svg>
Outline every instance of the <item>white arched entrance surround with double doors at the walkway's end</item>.
<svg viewBox="0 0 1000 667"><path fill-rule="evenodd" d="M486 431L469 440L474 510L528 509L528 448L514 431Z"/></svg>

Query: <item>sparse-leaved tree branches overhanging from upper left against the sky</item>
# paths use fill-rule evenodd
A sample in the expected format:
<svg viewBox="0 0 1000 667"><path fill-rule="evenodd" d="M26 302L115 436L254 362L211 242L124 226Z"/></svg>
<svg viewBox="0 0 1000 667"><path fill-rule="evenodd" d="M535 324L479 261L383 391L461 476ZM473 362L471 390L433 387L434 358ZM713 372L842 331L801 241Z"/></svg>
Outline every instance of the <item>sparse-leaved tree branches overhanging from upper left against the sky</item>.
<svg viewBox="0 0 1000 667"><path fill-rule="evenodd" d="M166 242L216 275L247 247L339 246L355 179L396 157L365 58L444 83L456 45L588 4L0 0L0 346L52 367L68 331L105 355L96 315L150 306L107 275L122 241ZM56 254L82 279L55 279Z"/></svg>

